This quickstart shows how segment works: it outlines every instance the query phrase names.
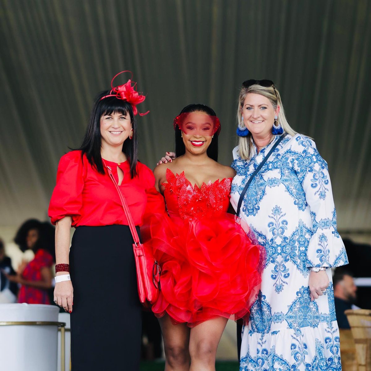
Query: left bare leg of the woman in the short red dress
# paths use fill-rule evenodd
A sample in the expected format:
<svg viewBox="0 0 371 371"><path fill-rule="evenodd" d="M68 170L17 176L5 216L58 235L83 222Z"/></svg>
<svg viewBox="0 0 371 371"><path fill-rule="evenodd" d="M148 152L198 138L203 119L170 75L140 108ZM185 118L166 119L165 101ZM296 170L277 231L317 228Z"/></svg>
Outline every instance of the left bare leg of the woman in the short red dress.
<svg viewBox="0 0 371 371"><path fill-rule="evenodd" d="M164 338L165 371L188 371L190 328L186 324L173 325L167 314L158 321Z"/></svg>

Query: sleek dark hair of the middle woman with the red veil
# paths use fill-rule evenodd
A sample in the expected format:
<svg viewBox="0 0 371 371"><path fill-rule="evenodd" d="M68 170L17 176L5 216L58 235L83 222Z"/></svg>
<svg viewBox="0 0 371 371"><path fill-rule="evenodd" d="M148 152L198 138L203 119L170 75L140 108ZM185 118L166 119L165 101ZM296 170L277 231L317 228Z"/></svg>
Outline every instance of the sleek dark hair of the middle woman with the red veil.
<svg viewBox="0 0 371 371"><path fill-rule="evenodd" d="M180 114L190 113L190 112L205 112L210 116L216 116L216 113L209 106L203 104L194 103L185 106ZM214 161L218 161L218 134L215 133L214 137L211 139L209 148L206 151L207 155ZM179 129L178 125L175 127L175 155L177 157L185 154L185 145L182 138L182 131Z"/></svg>

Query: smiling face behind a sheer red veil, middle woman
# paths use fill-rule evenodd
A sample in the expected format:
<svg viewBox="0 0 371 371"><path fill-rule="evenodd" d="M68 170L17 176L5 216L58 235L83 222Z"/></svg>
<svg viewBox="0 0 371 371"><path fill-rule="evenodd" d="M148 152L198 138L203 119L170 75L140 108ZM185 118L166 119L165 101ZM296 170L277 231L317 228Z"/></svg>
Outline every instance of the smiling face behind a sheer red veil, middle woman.
<svg viewBox="0 0 371 371"><path fill-rule="evenodd" d="M206 112L190 112L181 124L185 151L203 154L212 139L214 123Z"/></svg>

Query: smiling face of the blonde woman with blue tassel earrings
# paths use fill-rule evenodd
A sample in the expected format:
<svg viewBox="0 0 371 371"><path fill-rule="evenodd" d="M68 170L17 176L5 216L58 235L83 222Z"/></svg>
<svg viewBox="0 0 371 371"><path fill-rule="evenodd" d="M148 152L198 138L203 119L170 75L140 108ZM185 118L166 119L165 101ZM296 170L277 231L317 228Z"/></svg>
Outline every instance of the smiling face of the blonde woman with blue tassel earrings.
<svg viewBox="0 0 371 371"><path fill-rule="evenodd" d="M272 135L275 116L279 106L273 108L272 103L263 95L248 93L243 103L243 122L253 138L266 138Z"/></svg>

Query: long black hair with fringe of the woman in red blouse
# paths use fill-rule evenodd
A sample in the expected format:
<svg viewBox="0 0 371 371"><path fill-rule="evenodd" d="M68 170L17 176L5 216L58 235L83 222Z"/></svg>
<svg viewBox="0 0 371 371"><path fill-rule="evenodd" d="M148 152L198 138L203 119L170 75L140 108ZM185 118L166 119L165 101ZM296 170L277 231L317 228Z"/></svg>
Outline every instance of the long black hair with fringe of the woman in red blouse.
<svg viewBox="0 0 371 371"><path fill-rule="evenodd" d="M99 173L105 174L101 157L101 117L102 115L111 115L112 113L120 113L121 115L129 114L133 129L133 137L131 140L125 140L122 146L122 152L124 152L129 161L130 175L134 178L135 175L137 175L138 164L137 121L135 120L132 106L127 101L118 99L115 96L101 99L105 95L109 95L109 92L109 90L101 92L96 97L81 146L76 149L81 150L82 155L86 155L90 164L95 167Z"/></svg>

